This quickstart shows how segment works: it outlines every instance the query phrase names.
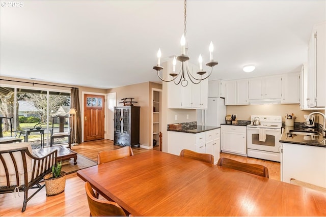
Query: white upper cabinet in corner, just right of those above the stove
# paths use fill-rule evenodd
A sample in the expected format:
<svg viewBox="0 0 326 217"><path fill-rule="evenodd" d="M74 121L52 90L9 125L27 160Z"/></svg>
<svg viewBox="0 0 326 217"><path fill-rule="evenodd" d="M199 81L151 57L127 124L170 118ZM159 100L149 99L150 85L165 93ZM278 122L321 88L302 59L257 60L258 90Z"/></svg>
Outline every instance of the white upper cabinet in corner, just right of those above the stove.
<svg viewBox="0 0 326 217"><path fill-rule="evenodd" d="M288 73L282 75L282 104L297 104L299 99L299 73Z"/></svg>

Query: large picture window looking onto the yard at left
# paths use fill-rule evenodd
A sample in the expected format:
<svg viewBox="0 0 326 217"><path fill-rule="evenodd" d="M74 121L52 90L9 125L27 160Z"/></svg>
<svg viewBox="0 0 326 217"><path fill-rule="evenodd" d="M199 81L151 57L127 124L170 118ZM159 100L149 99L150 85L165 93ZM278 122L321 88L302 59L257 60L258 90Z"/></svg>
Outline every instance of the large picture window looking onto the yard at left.
<svg viewBox="0 0 326 217"><path fill-rule="evenodd" d="M69 109L70 91L0 86L0 116L13 117L15 136L32 142L33 148L49 145L51 133L59 132L59 126L69 131ZM63 126L57 117L64 120ZM8 126L3 119L4 136L10 134Z"/></svg>

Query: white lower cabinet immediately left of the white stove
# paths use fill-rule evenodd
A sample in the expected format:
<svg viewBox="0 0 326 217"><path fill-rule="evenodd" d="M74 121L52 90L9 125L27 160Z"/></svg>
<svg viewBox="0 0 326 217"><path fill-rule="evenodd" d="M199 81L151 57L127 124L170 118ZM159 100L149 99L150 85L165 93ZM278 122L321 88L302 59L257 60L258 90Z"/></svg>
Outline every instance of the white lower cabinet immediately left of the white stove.
<svg viewBox="0 0 326 217"><path fill-rule="evenodd" d="M247 127L221 125L221 149L223 152L247 156Z"/></svg>

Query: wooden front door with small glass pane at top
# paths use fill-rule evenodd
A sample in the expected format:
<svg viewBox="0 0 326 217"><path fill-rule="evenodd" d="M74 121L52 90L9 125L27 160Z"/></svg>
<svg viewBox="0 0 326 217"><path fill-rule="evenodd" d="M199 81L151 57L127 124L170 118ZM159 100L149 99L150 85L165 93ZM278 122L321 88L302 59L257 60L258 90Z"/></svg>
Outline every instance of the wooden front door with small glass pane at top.
<svg viewBox="0 0 326 217"><path fill-rule="evenodd" d="M104 96L84 95L84 142L104 139Z"/></svg>

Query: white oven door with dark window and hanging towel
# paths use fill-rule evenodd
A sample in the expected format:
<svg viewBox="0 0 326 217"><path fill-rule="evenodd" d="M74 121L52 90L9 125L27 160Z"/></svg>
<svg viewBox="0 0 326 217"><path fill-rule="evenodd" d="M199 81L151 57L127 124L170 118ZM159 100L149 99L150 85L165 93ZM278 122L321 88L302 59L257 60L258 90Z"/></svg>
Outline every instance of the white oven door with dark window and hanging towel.
<svg viewBox="0 0 326 217"><path fill-rule="evenodd" d="M280 153L280 137L281 129L247 127L247 147L250 149Z"/></svg>

